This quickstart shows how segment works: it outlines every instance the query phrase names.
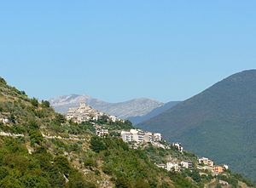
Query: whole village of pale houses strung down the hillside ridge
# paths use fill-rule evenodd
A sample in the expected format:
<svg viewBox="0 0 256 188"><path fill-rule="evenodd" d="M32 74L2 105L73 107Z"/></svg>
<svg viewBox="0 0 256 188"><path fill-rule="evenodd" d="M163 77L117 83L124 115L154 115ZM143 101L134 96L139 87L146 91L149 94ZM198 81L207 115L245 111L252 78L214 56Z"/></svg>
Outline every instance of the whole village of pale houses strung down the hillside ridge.
<svg viewBox="0 0 256 188"><path fill-rule="evenodd" d="M96 111L92 109L89 105L85 103L81 103L78 108L70 108L67 112L67 119L72 120L73 122L86 122L92 121L96 122L102 117L106 117L108 122L125 122L117 117L110 116L104 114L100 111ZM115 132L115 136L121 138L125 143L128 143L132 149L143 148L146 145L154 145L155 147L168 150L174 148L180 153L184 152L183 145L181 143L172 143L168 144L166 140L162 140L162 136L160 133L151 133L148 131L143 131L142 129L131 128L131 129L115 129L109 130L108 128L104 128L104 125L99 125L97 123L93 123L94 128L96 129L96 135L99 137L105 137ZM112 134L113 135L113 134ZM201 175L208 175L204 172L211 172L213 176L217 176L218 174L225 174L226 171L229 170L229 166L224 165L214 165L214 162L207 157L197 158L197 162L193 161L183 161L179 158L172 158L166 163L155 163L155 165L159 168L163 168L167 171L172 172L180 172L182 169L192 169L197 168L201 170ZM229 185L226 181L221 181L222 185Z"/></svg>

